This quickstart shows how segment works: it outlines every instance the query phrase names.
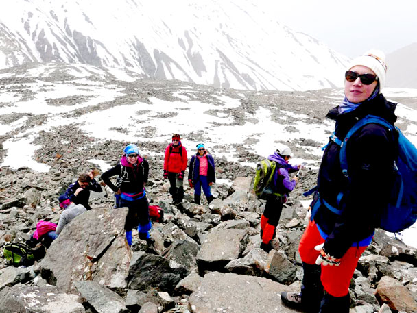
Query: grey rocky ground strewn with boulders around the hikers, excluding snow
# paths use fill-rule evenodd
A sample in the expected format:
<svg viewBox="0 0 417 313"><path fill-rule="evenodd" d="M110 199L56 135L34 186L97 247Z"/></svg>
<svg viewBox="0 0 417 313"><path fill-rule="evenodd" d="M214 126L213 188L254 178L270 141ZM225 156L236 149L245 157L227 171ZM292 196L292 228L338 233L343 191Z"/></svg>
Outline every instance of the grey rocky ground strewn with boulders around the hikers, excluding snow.
<svg viewBox="0 0 417 313"><path fill-rule="evenodd" d="M31 99L33 79L18 77L28 68L15 68L10 77L2 78L1 90ZM66 81L74 77L57 68L45 82ZM174 99L172 90L184 90L182 82L115 82L115 77L91 73L91 80L100 84L123 87L123 96L114 101L99 103L75 110L69 115L82 116L86 112L103 110L121 103L148 101L159 97ZM36 80L38 82L38 80ZM187 84L189 87L190 84ZM48 87L44 87L46 90ZM84 88L84 87L83 87ZM85 86L85 88L90 88ZM191 86L189 93L208 103L219 103L219 111L233 116L236 125L245 123L246 113L259 106L276 112L281 110L305 114L323 120L332 103L322 101L329 90L313 92L243 92L226 90L228 97L243 97L237 109L222 108L218 90L204 86ZM184 91L183 91L184 92ZM74 105L88 101L87 96L49 97L49 105ZM178 100L179 98L176 98ZM306 100L307 99L307 100ZM313 108L311 103L318 102ZM10 103L0 103L6 108ZM167 114L175 114L167 113ZM208 112L210 114L210 112ZM217 114L217 112L211 112ZM27 132L45 123L42 114L13 113L0 115L3 124L10 124L27 116L25 125L0 137L0 162L5 153L1 146L5 140ZM280 120L287 124L287 132L296 132L291 118ZM406 122L413 123L413 122ZM75 130L77 127L75 126ZM81 129L55 127L40 131L34 144L39 145L35 158L51 166L49 172L40 173L23 166L15 169L0 168L0 241L20 242L29 238L37 221L57 222L58 195L80 173L92 168L89 159L115 164L126 142L121 140L95 140ZM123 133L125 129L119 129ZM259 249L259 222L264 201L257 199L252 190L254 168L243 162L257 162L264 158L236 144L237 162L215 157L216 177L233 182L215 184L217 199L210 205L191 203L193 192L187 186L184 202L171 205L169 184L162 179L164 151L167 142L152 140L153 129L147 129L148 139L138 142L149 151L150 181L148 199L160 205L165 212L163 223L154 223L152 246L134 234L131 248L126 245L123 222L126 209L113 209L111 190L94 193L93 210L75 218L47 250L45 258L27 268L14 268L0 259L1 312L294 312L281 305L279 294L284 290L299 290L302 267L298 255L298 242L305 229L306 200L302 192L315 185L320 157L303 147L320 147L320 142L298 138L285 141L294 153L311 160L300 175L300 184L291 192L285 204L274 249L270 253ZM206 139L206 134L189 132L183 135L190 140ZM257 138L248 139L257 140ZM279 138L275 142L279 142ZM66 142L66 145L62 145ZM250 144L245 142L244 144ZM225 151L220 142L215 151ZM187 172L186 172L187 176ZM203 197L204 198L204 197ZM398 240L377 231L372 245L359 260L359 266L350 285L351 312L417 312L417 252ZM383 305L383 303L386 303ZM389 305L389 308L388 306Z"/></svg>

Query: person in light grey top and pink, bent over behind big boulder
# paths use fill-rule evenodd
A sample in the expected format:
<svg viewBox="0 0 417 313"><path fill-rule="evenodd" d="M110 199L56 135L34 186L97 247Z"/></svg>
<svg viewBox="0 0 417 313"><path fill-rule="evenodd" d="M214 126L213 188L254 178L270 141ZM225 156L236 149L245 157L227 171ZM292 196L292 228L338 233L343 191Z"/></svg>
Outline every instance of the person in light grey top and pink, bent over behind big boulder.
<svg viewBox="0 0 417 313"><path fill-rule="evenodd" d="M29 247L34 247L38 242L42 241L45 247L49 247L53 240L58 238L65 225L71 222L76 216L87 211L82 204L73 203L67 195L60 195L58 198L60 208L64 209L60 215L58 225L51 222L39 221L36 224L36 231L26 242Z"/></svg>

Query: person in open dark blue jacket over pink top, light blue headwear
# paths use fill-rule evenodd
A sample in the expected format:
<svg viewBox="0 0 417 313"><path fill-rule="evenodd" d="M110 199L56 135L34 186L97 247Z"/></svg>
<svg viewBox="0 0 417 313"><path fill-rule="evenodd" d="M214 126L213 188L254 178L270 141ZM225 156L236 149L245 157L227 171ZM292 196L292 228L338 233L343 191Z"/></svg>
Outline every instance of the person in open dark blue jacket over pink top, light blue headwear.
<svg viewBox="0 0 417 313"><path fill-rule="evenodd" d="M191 188L194 187L194 203L200 204L201 188L203 188L208 203L215 199L210 190L210 186L216 182L215 163L202 143L197 145L197 153L191 157L188 182Z"/></svg>

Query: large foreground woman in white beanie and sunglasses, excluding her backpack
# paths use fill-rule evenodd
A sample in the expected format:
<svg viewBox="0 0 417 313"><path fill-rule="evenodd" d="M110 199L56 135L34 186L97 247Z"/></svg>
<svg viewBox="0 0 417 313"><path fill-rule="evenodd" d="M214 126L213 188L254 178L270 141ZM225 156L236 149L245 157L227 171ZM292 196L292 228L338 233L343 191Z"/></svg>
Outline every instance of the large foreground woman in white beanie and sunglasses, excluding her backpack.
<svg viewBox="0 0 417 313"><path fill-rule="evenodd" d="M386 71L381 51L355 58L345 73L344 100L326 116L335 121L335 131L322 156L309 224L298 247L304 271L301 292L281 293L291 308L349 312L350 279L390 192L397 139L377 123L360 127L346 143L348 172L342 172L340 149L349 130L367 115L394 125L396 103L381 93Z"/></svg>

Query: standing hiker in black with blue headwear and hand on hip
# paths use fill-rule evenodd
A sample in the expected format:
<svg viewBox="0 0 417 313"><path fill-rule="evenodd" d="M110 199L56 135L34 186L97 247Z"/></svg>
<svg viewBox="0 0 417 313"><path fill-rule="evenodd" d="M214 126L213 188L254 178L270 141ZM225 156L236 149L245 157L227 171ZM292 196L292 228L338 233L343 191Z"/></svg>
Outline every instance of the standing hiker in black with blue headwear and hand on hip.
<svg viewBox="0 0 417 313"><path fill-rule="evenodd" d="M139 155L139 148L130 144L123 150L119 164L102 174L103 181L120 195L120 207L128 207L125 231L129 246L132 245L132 229L138 225L139 239L152 244L149 231L152 227L149 218L149 203L146 198L145 184L149 175L147 160ZM119 187L115 186L110 177L120 177Z"/></svg>

